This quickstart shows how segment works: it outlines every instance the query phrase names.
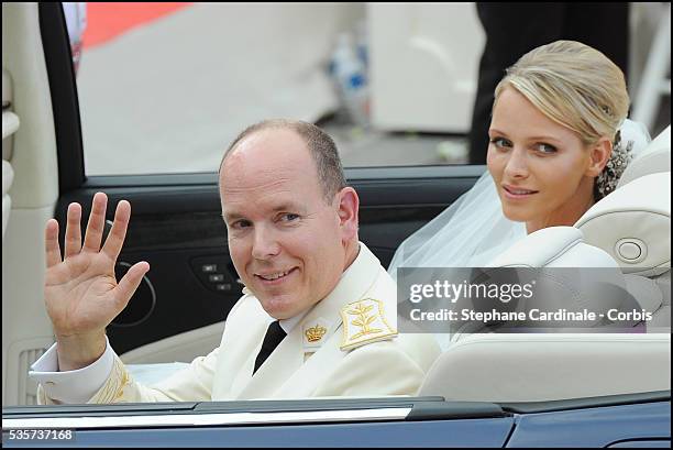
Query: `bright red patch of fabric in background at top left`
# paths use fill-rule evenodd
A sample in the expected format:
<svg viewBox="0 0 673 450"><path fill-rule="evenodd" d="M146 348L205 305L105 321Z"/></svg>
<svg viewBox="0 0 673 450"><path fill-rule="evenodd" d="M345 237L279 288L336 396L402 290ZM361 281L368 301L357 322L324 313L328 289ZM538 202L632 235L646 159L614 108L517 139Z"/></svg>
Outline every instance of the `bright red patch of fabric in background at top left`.
<svg viewBox="0 0 673 450"><path fill-rule="evenodd" d="M87 3L87 28L82 37L85 48L104 44L123 33L146 25L191 3Z"/></svg>

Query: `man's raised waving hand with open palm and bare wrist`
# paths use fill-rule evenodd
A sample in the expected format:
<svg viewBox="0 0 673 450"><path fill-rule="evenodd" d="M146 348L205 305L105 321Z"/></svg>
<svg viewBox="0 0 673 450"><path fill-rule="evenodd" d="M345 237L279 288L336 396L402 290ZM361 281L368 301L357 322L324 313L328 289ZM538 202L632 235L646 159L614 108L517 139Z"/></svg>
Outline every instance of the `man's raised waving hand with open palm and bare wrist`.
<svg viewBox="0 0 673 450"><path fill-rule="evenodd" d="M150 264L133 265L119 284L114 264L119 256L131 205L121 200L112 229L101 249L108 198L93 196L91 215L81 242L81 207L68 207L65 252L58 245L58 222L51 219L45 230L46 278L44 298L58 343L60 371L80 369L95 362L106 348L106 327L125 307Z"/></svg>

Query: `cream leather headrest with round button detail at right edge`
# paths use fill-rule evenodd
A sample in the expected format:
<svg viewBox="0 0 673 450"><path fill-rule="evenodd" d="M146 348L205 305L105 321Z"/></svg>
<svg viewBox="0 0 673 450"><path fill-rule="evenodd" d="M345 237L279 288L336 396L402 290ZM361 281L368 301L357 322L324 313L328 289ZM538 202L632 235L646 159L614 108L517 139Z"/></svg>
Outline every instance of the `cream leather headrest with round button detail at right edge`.
<svg viewBox="0 0 673 450"><path fill-rule="evenodd" d="M671 172L646 175L594 205L575 227L609 253L624 273L653 275L671 267Z"/></svg>

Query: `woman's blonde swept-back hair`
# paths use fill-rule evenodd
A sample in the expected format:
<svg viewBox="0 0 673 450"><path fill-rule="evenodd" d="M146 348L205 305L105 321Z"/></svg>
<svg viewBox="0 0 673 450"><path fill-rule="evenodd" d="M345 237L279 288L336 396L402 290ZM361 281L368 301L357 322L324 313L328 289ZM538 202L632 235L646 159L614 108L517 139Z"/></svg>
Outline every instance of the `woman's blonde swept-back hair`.
<svg viewBox="0 0 673 450"><path fill-rule="evenodd" d="M629 94L621 69L597 50L556 41L528 52L496 87L494 107L508 86L544 116L575 131L585 145L603 136L618 143Z"/></svg>

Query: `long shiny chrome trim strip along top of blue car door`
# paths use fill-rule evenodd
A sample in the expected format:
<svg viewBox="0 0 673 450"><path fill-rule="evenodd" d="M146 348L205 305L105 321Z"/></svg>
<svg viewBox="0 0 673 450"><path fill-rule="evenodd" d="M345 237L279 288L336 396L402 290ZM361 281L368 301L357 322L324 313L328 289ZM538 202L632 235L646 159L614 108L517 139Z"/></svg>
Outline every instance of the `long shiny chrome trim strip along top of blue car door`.
<svg viewBox="0 0 673 450"><path fill-rule="evenodd" d="M2 429L152 428L207 425L277 425L324 421L404 420L411 408L341 409L284 413L166 414L154 416L40 417L2 419Z"/></svg>

